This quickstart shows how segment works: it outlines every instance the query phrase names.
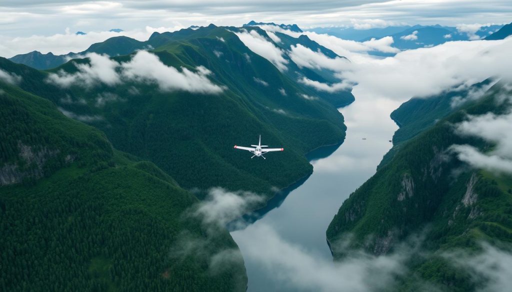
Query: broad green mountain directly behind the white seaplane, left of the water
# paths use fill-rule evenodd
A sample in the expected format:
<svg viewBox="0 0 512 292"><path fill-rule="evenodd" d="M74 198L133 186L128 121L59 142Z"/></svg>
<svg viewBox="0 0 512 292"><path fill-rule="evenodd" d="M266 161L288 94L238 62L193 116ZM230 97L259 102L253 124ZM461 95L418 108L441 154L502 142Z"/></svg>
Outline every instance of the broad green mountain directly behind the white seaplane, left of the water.
<svg viewBox="0 0 512 292"><path fill-rule="evenodd" d="M85 90L80 83L66 87L48 82L52 74L70 76L89 67L87 58L49 72L7 60L0 68L21 76L19 86L25 91L104 131L117 149L155 163L186 189L198 188L199 197L218 186L271 197L275 189L311 173L305 153L344 140L343 116L330 101L304 98L316 93L250 51L226 28L154 33L144 44L154 47L152 54L162 62L159 70L169 66L196 72L203 66L211 72L212 84L224 89L216 94L165 90L144 79ZM113 60L127 63L137 54ZM258 161L233 150L235 144L253 144L259 134L267 145L284 146L285 151Z"/></svg>

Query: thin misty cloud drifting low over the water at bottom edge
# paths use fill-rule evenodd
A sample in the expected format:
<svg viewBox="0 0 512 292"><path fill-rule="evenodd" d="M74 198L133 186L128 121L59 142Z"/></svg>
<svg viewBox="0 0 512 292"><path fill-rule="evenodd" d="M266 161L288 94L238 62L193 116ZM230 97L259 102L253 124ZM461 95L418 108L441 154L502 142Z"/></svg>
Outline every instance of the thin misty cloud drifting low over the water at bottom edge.
<svg viewBox="0 0 512 292"><path fill-rule="evenodd" d="M286 241L272 226L261 221L231 235L246 262L255 265L250 268L261 269L266 279L297 291L377 291L392 285L395 277L405 272L403 261L409 254L406 249L398 248L399 252L387 256L352 251L349 257L333 262Z"/></svg>

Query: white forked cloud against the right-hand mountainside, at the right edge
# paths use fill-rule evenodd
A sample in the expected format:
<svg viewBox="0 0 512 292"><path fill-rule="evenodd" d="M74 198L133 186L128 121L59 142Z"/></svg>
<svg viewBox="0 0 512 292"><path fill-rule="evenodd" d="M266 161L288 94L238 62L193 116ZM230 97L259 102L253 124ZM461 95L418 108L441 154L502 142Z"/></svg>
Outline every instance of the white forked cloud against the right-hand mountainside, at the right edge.
<svg viewBox="0 0 512 292"><path fill-rule="evenodd" d="M469 116L468 120L455 126L455 131L462 136L479 137L496 145L488 153L482 153L471 145L452 145L450 149L459 160L475 168L512 173L512 112Z"/></svg>

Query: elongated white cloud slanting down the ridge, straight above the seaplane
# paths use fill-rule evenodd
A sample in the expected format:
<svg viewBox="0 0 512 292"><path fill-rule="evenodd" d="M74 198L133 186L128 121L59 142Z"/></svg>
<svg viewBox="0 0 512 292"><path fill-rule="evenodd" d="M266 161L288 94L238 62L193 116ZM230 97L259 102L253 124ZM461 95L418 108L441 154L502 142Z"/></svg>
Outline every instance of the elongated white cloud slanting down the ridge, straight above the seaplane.
<svg viewBox="0 0 512 292"><path fill-rule="evenodd" d="M284 52L278 47L275 47L272 42L268 41L257 31L251 30L248 32L243 29L239 32L235 32L235 34L249 50L269 60L279 71L283 72L287 70L286 64L288 64L288 60L283 57Z"/></svg>

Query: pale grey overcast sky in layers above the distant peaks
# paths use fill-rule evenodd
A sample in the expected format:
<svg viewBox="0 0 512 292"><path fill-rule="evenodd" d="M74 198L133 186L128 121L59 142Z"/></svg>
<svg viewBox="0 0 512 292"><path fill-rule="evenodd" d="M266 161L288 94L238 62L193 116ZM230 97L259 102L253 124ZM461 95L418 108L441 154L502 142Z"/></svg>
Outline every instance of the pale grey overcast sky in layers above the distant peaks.
<svg viewBox="0 0 512 292"><path fill-rule="evenodd" d="M510 23L510 0L147 0L0 1L0 35L31 36L76 31L241 26L249 20L301 27L386 24ZM378 19L378 20L377 20Z"/></svg>

